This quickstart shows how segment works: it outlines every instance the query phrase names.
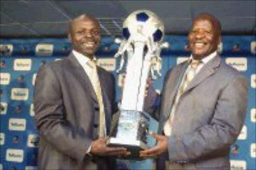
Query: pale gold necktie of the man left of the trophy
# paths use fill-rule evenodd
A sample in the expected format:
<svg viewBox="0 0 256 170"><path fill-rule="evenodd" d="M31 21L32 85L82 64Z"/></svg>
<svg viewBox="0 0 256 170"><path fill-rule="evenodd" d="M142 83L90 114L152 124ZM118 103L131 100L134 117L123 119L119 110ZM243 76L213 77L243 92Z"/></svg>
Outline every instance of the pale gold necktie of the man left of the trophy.
<svg viewBox="0 0 256 170"><path fill-rule="evenodd" d="M103 137L106 134L105 129L105 114L104 114L104 105L102 100L102 93L100 88L100 82L97 74L97 67L95 61L88 60L87 64L91 67L92 73L90 76L91 84L96 93L98 104L99 104L99 128L98 135L99 137Z"/></svg>

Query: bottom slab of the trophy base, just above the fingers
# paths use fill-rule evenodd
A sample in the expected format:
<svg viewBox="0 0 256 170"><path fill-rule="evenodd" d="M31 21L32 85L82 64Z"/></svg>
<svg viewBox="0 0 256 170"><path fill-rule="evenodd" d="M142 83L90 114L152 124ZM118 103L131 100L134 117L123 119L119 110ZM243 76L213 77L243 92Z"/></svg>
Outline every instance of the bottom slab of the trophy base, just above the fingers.
<svg viewBox="0 0 256 170"><path fill-rule="evenodd" d="M142 141L124 141L124 139L116 137L110 137L107 141L107 145L109 147L125 147L129 154L126 156L122 156L121 158L134 160L142 160L142 158L139 157L139 151L148 148L148 146Z"/></svg>

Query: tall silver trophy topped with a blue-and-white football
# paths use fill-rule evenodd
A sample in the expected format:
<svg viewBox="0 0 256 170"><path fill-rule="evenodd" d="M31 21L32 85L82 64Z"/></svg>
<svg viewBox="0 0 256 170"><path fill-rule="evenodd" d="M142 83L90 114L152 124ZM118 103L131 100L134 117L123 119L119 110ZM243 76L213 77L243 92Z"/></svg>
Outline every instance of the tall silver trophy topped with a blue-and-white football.
<svg viewBox="0 0 256 170"><path fill-rule="evenodd" d="M126 147L130 154L123 158L139 159L139 150L148 148L149 115L143 111L143 102L151 60L160 54L163 22L149 10L137 10L124 20L122 34L114 57L121 56L117 72L127 57L126 76L115 134L107 143Z"/></svg>

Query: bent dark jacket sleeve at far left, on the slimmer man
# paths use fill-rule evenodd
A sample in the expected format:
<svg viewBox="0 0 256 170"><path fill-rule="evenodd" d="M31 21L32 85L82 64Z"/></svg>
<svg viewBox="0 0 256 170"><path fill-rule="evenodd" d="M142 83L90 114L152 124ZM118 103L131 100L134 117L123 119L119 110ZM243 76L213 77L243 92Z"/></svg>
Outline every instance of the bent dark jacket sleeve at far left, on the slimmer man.
<svg viewBox="0 0 256 170"><path fill-rule="evenodd" d="M33 95L39 134L61 153L82 161L92 140L66 121L61 84L47 64L38 71Z"/></svg>

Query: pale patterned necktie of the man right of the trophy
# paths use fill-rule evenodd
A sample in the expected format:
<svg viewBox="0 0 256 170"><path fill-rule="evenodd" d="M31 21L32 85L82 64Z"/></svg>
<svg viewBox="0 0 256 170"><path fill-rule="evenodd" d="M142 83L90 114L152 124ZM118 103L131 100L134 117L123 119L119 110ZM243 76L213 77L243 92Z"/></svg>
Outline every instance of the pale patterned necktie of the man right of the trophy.
<svg viewBox="0 0 256 170"><path fill-rule="evenodd" d="M195 72L196 72L196 68L202 63L201 60L190 60L187 71L184 75L184 79L183 81L181 81L174 103L172 105L170 114L169 114L169 118L166 120L164 126L163 126L163 131L165 135L170 135L171 134L171 124L172 124L172 120L174 117L174 113L176 111L176 107L177 107L177 103L179 100L179 97L181 94L183 94L183 92L185 91L187 84L193 79Z"/></svg>

